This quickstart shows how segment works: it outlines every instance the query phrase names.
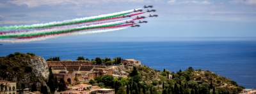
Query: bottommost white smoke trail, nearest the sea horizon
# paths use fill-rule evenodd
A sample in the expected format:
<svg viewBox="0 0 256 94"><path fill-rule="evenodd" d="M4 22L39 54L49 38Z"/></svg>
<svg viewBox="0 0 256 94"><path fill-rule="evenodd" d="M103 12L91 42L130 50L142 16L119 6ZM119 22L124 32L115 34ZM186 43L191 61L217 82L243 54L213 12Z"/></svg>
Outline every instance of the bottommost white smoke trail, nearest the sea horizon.
<svg viewBox="0 0 256 94"><path fill-rule="evenodd" d="M40 38L36 38L36 39L0 39L0 42L22 43L22 42L30 42L30 41L42 41L45 39L51 39L51 38L56 38L56 37L75 36L75 35L82 35L82 34L94 34L94 33L101 33L101 32L111 32L111 31L122 30L122 29L127 29L127 27L118 28L118 29L95 30L95 31L88 31L88 32L60 34L58 36L47 36L47 37L40 37Z"/></svg>

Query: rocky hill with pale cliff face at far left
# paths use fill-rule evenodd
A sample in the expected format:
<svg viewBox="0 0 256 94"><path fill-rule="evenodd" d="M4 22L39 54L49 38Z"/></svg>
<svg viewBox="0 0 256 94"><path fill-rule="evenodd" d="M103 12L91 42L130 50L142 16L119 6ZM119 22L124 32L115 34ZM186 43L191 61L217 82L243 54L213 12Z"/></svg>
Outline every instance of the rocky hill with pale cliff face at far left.
<svg viewBox="0 0 256 94"><path fill-rule="evenodd" d="M31 88L32 84L43 84L49 76L47 64L33 53L19 53L0 57L0 79L17 83L17 89ZM39 85L38 85L39 87Z"/></svg>

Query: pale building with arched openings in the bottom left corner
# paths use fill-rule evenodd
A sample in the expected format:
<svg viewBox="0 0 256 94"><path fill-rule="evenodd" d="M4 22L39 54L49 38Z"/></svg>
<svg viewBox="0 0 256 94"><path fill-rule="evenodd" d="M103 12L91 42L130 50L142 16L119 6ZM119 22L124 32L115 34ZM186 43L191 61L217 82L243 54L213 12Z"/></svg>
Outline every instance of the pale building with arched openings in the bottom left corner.
<svg viewBox="0 0 256 94"><path fill-rule="evenodd" d="M6 88L1 87L0 88L0 94L17 94L17 89L16 89L16 83L10 82L10 81L5 81L5 80L0 80L0 84L6 84ZM4 92L5 90L5 92Z"/></svg>

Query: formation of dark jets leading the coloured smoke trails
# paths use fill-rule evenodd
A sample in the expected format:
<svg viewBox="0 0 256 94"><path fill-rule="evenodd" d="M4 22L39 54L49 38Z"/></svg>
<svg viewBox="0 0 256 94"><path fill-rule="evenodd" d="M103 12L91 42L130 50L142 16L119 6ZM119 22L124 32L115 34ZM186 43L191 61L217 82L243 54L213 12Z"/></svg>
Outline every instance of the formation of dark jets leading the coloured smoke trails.
<svg viewBox="0 0 256 94"><path fill-rule="evenodd" d="M143 6L143 8L153 8L153 6L152 5L149 5L149 6L146 6L146 5L144 5ZM138 11L143 11L143 10L134 10L134 12L138 12ZM156 10L147 10L147 12L155 12ZM131 15L123 15L123 18L126 18L126 17L131 17ZM148 17L158 17L158 15L149 15ZM141 17L139 17L139 16L137 16L136 17L136 19L141 19L141 18L146 18L146 17L144 17L144 16L141 16ZM126 21L125 22L126 24L129 24L129 23L134 23L134 21ZM139 24L142 24L142 23L148 23L147 21L139 21L138 22ZM140 25L131 25L131 27L140 27Z"/></svg>

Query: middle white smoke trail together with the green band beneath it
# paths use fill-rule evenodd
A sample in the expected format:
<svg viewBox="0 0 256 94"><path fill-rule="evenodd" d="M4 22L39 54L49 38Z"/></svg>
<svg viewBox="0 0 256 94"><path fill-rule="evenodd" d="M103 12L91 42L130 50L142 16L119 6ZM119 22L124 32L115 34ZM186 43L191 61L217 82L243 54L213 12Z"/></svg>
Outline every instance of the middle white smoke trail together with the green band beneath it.
<svg viewBox="0 0 256 94"><path fill-rule="evenodd" d="M132 20L132 19L130 19ZM83 27L75 27L70 29L54 29L54 30L35 30L33 32L22 32L19 34L6 34L0 35L0 38L8 38L8 37L28 37L28 36L41 36L41 35L49 35L49 34L58 34L63 32L75 32L79 30L86 30L86 29L97 29L102 27L111 27L115 25L121 25L120 23L124 23L126 20L116 21L116 22L109 22L106 24L98 24L98 25L90 25L90 26L83 26Z"/></svg>

